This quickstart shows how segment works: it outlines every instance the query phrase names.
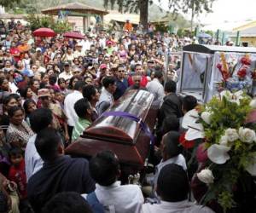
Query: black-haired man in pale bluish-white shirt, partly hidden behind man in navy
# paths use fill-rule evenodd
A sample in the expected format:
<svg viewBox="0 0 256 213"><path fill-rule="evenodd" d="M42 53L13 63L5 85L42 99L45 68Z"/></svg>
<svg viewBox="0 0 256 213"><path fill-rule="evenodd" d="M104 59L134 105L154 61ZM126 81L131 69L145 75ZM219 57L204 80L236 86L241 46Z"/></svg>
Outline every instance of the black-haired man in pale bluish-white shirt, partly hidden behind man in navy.
<svg viewBox="0 0 256 213"><path fill-rule="evenodd" d="M26 181L43 167L44 161L39 156L35 147L37 134L40 130L49 127L52 123L52 113L47 108L40 108L32 112L29 120L31 128L35 135L29 138L26 144L25 165L26 165Z"/></svg>

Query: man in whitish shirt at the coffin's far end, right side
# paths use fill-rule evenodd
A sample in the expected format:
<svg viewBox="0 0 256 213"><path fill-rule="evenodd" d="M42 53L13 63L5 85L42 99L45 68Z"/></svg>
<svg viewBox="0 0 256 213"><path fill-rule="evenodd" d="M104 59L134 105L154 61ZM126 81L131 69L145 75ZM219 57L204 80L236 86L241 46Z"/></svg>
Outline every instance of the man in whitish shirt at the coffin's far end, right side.
<svg viewBox="0 0 256 213"><path fill-rule="evenodd" d="M164 80L163 72L155 71L154 79L147 83L148 92L154 94L154 103L162 103L165 97L164 87L161 82Z"/></svg>

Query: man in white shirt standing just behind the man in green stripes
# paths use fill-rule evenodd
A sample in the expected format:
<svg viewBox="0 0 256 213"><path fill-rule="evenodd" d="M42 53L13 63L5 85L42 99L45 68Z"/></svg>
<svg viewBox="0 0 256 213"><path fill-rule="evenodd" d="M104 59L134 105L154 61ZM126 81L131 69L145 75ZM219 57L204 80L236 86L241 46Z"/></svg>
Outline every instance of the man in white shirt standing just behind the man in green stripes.
<svg viewBox="0 0 256 213"><path fill-rule="evenodd" d="M73 93L68 94L64 101L64 111L67 116L67 130L69 138L72 137L73 127L79 120L79 117L73 107L77 101L83 98L82 91L85 84L86 83L83 81L75 83Z"/></svg>

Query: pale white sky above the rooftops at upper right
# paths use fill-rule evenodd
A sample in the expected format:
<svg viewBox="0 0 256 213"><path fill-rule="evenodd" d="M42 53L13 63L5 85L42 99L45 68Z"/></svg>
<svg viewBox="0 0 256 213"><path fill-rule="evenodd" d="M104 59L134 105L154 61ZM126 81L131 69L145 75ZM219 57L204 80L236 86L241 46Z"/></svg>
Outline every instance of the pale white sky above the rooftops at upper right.
<svg viewBox="0 0 256 213"><path fill-rule="evenodd" d="M158 0L154 0L158 4ZM161 0L163 9L167 8L168 0ZM216 0L212 14L201 14L199 21L204 24L224 22L242 22L256 20L256 0ZM189 18L189 17L188 17Z"/></svg>

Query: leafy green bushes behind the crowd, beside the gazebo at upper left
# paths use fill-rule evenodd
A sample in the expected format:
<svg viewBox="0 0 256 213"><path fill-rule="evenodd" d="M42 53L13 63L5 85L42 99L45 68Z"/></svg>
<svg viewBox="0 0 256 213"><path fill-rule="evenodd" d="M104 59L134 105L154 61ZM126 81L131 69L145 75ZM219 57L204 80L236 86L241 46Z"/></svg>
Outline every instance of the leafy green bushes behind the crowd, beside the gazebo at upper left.
<svg viewBox="0 0 256 213"><path fill-rule="evenodd" d="M35 14L29 14L26 20L32 31L35 31L40 27L49 27L56 33L69 32L72 30L72 26L67 22L67 20L55 20L52 16L48 15L38 16Z"/></svg>

